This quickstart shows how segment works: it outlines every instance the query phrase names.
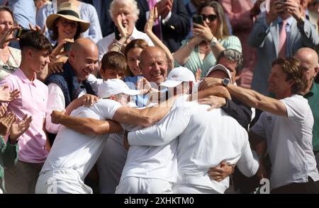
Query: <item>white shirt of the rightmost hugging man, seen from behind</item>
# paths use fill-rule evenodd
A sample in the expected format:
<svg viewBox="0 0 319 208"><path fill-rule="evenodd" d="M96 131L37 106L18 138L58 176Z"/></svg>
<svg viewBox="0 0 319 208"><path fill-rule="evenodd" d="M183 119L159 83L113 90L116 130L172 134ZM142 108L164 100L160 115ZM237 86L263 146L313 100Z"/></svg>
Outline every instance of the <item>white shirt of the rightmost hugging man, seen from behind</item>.
<svg viewBox="0 0 319 208"><path fill-rule="evenodd" d="M164 145L178 141L177 164L179 184L201 186L223 193L229 178L218 183L208 176L208 168L220 162L237 163L247 176L257 172L248 136L233 117L221 109L207 111L208 105L184 102L157 125L128 134L131 145ZM179 137L179 139L175 139Z"/></svg>

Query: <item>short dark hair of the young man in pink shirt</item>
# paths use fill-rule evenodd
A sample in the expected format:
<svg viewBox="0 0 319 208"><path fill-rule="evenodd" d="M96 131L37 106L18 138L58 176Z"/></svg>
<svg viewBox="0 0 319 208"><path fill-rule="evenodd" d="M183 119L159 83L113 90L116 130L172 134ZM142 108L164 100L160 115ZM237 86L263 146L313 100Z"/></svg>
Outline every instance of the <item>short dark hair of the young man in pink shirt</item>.
<svg viewBox="0 0 319 208"><path fill-rule="evenodd" d="M39 31L29 30L28 32L21 35L19 40L21 50L26 47L31 47L35 50L48 50L52 52L52 45L47 37Z"/></svg>

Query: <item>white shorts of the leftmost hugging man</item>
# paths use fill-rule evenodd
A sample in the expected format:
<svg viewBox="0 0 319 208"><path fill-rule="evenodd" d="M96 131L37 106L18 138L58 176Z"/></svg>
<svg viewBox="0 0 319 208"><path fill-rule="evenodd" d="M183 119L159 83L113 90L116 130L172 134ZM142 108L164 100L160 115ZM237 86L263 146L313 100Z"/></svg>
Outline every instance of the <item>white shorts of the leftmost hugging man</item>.
<svg viewBox="0 0 319 208"><path fill-rule="evenodd" d="M41 171L36 194L92 194L91 187L84 184L79 173L73 169Z"/></svg>

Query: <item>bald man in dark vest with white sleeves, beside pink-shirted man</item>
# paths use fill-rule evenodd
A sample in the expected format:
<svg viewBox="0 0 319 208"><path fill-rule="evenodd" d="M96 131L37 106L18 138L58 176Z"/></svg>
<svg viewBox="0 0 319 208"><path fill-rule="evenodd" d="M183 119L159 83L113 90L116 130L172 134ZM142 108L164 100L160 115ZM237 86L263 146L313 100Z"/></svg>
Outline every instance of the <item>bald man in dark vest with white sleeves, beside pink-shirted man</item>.
<svg viewBox="0 0 319 208"><path fill-rule="evenodd" d="M98 67L99 50L89 38L75 40L69 51L69 59L63 72L51 74L45 81L49 89L49 99L45 117L45 129L52 145L60 125L52 124L52 110L64 110L72 100L86 93L94 95L86 79Z"/></svg>

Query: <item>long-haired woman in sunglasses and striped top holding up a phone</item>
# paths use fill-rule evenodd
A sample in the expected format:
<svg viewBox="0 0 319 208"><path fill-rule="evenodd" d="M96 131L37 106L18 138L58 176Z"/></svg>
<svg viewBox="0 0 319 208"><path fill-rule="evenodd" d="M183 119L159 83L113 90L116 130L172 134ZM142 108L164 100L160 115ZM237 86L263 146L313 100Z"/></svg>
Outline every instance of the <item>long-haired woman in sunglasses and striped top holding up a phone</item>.
<svg viewBox="0 0 319 208"><path fill-rule="evenodd" d="M183 66L194 75L201 69L201 77L216 64L218 54L225 49L242 51L240 40L230 35L223 7L216 1L208 1L198 8L203 23L193 23L193 37L182 42L174 52L175 67Z"/></svg>

